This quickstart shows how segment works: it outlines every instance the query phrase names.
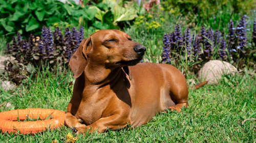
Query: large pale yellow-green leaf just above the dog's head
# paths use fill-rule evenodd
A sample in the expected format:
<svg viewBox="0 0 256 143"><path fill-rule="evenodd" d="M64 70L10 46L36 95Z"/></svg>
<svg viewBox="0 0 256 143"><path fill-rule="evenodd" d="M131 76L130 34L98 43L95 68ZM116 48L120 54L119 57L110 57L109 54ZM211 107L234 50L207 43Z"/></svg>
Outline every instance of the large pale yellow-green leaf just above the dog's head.
<svg viewBox="0 0 256 143"><path fill-rule="evenodd" d="M127 9L118 5L115 6L114 23L119 21L133 20L135 17L137 17L137 11L135 9Z"/></svg>

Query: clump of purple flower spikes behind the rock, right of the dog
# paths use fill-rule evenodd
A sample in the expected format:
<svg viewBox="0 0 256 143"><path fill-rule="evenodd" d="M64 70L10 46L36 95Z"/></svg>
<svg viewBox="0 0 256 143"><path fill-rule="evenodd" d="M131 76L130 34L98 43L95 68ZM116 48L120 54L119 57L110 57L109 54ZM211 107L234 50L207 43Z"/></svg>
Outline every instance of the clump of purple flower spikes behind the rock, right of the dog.
<svg viewBox="0 0 256 143"><path fill-rule="evenodd" d="M177 61L186 61L191 62L190 66L198 67L195 64L220 59L231 61L241 68L246 64L245 62L248 64L249 61L256 60L255 54L253 55L256 51L255 26L254 21L252 39L248 41L245 15L236 28L233 26L232 20L230 21L226 37L219 30L214 31L209 28L206 31L204 26L201 27L200 35L194 34L191 37L190 30L187 29L182 36L180 26L177 24L174 32L165 34L163 37L162 62L176 64ZM254 44L247 46L250 42L254 42ZM197 71L197 69L194 70Z"/></svg>

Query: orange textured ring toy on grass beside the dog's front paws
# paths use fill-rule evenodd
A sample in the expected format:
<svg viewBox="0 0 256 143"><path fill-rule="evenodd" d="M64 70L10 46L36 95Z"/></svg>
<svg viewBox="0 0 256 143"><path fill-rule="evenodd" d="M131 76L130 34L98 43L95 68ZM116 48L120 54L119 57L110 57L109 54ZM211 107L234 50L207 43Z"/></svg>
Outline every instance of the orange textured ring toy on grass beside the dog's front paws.
<svg viewBox="0 0 256 143"><path fill-rule="evenodd" d="M44 120L48 117L47 120ZM38 121L18 122L25 120L27 117L32 119L40 118ZM54 109L28 108L16 109L0 112L0 129L2 132L17 132L22 134L33 134L45 131L46 129L56 129L61 127L65 122L65 111Z"/></svg>

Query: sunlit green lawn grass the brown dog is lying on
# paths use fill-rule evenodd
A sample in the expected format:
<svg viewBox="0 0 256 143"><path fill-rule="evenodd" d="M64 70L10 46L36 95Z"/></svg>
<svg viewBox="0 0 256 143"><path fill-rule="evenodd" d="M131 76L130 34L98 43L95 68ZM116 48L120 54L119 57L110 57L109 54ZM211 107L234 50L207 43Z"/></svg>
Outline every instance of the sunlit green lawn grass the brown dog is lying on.
<svg viewBox="0 0 256 143"><path fill-rule="evenodd" d="M36 71L37 72L37 71ZM245 72L246 73L246 72ZM193 76L190 76L193 78ZM105 133L78 135L76 142L255 142L255 75L226 76L218 85L189 90L189 107L181 113L163 112L141 127ZM24 108L53 108L66 111L73 82L70 70L53 74L38 72L14 91L0 89L0 111ZM67 127L34 135L0 134L0 142L65 142L71 132Z"/></svg>

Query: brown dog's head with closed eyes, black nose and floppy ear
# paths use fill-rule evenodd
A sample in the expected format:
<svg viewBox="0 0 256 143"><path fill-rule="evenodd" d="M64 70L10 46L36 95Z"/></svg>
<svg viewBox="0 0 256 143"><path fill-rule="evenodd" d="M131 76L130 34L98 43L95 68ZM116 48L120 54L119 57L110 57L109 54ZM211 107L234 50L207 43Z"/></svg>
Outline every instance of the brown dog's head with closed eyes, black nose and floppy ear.
<svg viewBox="0 0 256 143"><path fill-rule="evenodd" d="M101 30L83 39L69 66L75 78L82 74L88 63L105 69L134 66L142 60L145 50L122 31Z"/></svg>

